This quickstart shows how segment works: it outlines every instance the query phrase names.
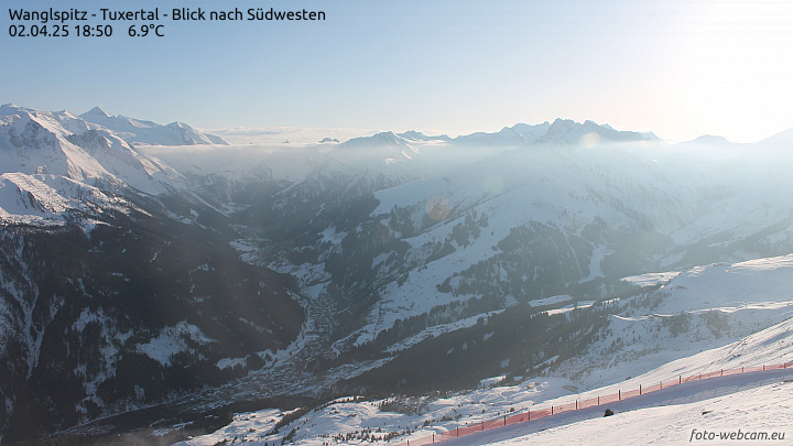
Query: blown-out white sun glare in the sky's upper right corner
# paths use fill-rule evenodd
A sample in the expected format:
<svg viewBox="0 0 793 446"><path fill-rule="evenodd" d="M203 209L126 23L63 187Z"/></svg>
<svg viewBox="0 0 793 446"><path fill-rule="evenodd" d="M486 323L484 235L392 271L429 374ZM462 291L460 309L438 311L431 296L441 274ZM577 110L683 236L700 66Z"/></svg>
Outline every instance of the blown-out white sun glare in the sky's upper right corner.
<svg viewBox="0 0 793 446"><path fill-rule="evenodd" d="M749 142L793 127L793 2L703 1L681 20L681 111L693 128Z"/></svg>

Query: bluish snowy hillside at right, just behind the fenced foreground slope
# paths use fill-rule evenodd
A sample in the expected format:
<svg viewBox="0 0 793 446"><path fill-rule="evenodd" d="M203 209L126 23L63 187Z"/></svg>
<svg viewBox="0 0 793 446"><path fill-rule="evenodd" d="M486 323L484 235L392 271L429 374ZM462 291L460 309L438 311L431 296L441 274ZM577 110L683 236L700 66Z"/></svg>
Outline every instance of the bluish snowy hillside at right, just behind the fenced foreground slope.
<svg viewBox="0 0 793 446"><path fill-rule="evenodd" d="M601 338L585 355L557 365L554 374L569 377L577 387L590 389L609 380L636 377L648 367L741 339L793 317L793 255L650 276L663 285L624 302L627 309L609 316ZM647 285L649 278L626 280ZM780 329L787 330L791 323L785 324ZM776 357L758 352L747 360L771 358ZM620 371L616 372L615 367Z"/></svg>

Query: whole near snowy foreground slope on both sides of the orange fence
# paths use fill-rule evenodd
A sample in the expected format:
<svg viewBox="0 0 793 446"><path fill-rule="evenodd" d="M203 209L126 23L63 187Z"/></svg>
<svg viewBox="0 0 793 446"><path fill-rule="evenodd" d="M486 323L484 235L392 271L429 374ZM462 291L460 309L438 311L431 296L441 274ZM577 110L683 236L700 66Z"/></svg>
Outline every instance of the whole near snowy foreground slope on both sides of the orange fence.
<svg viewBox="0 0 793 446"><path fill-rule="evenodd" d="M439 434L458 426L498 418L512 414L513 411L565 404L593 395L611 394L618 389L633 390L639 384L647 385L678 374L687 377L720 368L781 363L791 360L793 360L793 319L750 335L740 341L682 358L631 380L587 393L571 394L573 388L564 384L565 380L558 378L531 378L518 385L489 387L498 383L499 379L495 379L482 382L484 387L474 392L445 398L398 398L374 401L339 399L308 412L278 433L272 432L274 422L283 416L278 411L240 414L235 417L233 423L215 434L197 437L184 444L209 445L220 440L270 444L280 442L292 429L295 431L293 439L297 445L370 444L392 437L391 443L401 444L406 439L417 440L432 433ZM793 370L779 370L689 382L621 403L612 403L609 406L618 415L611 418L602 418L602 407L593 407L543 418L536 423L521 423L504 429L474 434L452 440L449 444L478 445L504 442L503 444L510 445L562 445L580 444L582 438L588 438L584 443L593 444L595 437L591 435L599 433L605 426L613 426L621 434L620 440L616 442L620 444L624 442L680 444L687 440L687 435L693 428L735 431L740 427L743 432L776 431L793 435L791 425L779 417L780 413L786 413L785 407L790 409L793 387L790 382L782 383L782 381L791 377ZM563 388L563 384L566 388ZM563 394L566 395L561 396ZM710 414L705 417L704 415L707 414L703 412ZM747 414L751 416L748 417ZM637 426L647 428L639 429ZM681 439L683 436L685 438ZM618 437L604 438L608 442L594 444L613 444L615 438Z"/></svg>

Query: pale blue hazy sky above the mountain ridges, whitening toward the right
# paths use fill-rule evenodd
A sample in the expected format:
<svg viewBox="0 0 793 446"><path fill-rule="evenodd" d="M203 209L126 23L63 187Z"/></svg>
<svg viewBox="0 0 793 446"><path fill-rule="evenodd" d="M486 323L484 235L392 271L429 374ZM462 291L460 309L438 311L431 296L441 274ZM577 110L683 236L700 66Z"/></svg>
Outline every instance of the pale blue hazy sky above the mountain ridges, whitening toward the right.
<svg viewBox="0 0 793 446"><path fill-rule="evenodd" d="M789 0L4 0L8 8L322 10L172 22L165 37L26 37L2 17L1 102L204 129L449 134L557 117L670 140L793 127ZM51 23L52 25L52 23Z"/></svg>

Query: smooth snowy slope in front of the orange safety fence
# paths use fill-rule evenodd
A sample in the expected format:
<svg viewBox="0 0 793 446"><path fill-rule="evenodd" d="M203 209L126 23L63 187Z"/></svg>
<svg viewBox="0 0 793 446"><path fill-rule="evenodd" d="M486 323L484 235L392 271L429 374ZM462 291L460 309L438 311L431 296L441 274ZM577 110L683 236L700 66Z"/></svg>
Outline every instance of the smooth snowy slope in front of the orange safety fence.
<svg viewBox="0 0 793 446"><path fill-rule="evenodd" d="M453 445L787 444L793 372L685 383L604 407L564 413L443 443ZM723 436L724 435L724 436ZM775 435L771 437L771 435ZM724 439L723 439L724 438Z"/></svg>

